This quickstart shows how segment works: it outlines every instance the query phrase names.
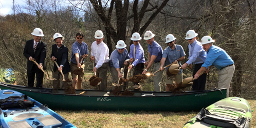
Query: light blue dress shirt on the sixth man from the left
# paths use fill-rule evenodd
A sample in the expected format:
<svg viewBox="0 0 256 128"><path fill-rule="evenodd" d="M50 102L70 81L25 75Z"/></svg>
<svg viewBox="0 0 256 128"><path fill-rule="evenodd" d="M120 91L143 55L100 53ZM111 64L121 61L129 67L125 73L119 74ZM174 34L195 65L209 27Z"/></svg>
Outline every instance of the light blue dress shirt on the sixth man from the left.
<svg viewBox="0 0 256 128"><path fill-rule="evenodd" d="M138 63L145 63L144 50L140 44L135 46L135 57L133 55L133 52L134 44L130 46L130 58L135 58L134 62L132 63L133 67L137 66Z"/></svg>

